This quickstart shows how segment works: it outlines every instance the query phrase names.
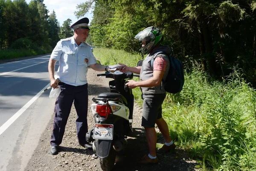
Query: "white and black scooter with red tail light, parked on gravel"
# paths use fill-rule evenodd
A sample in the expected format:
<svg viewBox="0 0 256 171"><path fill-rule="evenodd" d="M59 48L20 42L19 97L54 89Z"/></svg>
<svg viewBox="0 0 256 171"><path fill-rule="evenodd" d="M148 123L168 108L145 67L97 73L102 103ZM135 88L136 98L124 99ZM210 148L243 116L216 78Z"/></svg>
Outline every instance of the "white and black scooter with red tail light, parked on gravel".
<svg viewBox="0 0 256 171"><path fill-rule="evenodd" d="M127 135L132 129L134 96L125 86L126 79L135 75L132 72L105 72L97 76L113 78L109 81L110 93L101 93L93 98L91 105L95 124L86 134L86 140L93 142L93 151L100 158L103 171L111 171L115 164L116 151L127 145Z"/></svg>

